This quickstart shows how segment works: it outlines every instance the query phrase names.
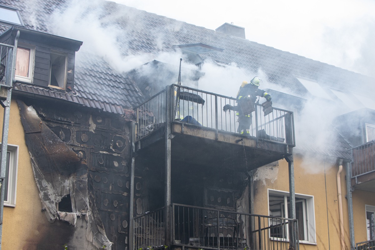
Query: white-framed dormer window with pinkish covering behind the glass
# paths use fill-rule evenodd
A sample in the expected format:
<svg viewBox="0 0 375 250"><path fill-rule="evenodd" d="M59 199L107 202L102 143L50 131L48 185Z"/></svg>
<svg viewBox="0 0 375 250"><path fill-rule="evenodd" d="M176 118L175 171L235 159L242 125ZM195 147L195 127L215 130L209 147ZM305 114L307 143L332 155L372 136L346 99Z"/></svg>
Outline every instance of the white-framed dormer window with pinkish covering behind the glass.
<svg viewBox="0 0 375 250"><path fill-rule="evenodd" d="M17 47L15 79L18 81L32 82L34 51L31 46L20 45Z"/></svg>

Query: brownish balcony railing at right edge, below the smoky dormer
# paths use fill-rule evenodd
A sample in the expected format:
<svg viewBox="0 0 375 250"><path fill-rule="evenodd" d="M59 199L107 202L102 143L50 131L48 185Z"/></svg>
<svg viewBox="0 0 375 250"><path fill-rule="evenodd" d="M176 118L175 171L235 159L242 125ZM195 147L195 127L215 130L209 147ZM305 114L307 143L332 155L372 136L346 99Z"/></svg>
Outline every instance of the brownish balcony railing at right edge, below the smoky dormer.
<svg viewBox="0 0 375 250"><path fill-rule="evenodd" d="M375 141L353 148L352 178L375 171Z"/></svg>

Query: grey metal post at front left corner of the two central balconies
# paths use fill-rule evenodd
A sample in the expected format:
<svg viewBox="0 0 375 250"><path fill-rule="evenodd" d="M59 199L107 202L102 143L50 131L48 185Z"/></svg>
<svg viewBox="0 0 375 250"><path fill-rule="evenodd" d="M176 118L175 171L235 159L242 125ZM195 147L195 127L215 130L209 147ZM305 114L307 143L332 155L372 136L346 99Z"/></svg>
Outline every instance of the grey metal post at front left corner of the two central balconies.
<svg viewBox="0 0 375 250"><path fill-rule="evenodd" d="M172 85L173 86L173 85ZM171 87L165 89L165 199L164 199L164 235L165 245L171 246Z"/></svg>

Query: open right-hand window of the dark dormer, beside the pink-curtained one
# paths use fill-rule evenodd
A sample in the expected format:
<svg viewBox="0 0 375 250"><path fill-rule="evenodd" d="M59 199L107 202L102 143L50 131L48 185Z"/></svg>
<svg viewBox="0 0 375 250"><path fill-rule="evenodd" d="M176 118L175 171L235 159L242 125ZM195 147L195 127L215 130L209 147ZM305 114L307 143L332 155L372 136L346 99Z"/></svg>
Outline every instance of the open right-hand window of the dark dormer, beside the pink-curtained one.
<svg viewBox="0 0 375 250"><path fill-rule="evenodd" d="M52 52L49 61L49 87L65 89L67 56Z"/></svg>

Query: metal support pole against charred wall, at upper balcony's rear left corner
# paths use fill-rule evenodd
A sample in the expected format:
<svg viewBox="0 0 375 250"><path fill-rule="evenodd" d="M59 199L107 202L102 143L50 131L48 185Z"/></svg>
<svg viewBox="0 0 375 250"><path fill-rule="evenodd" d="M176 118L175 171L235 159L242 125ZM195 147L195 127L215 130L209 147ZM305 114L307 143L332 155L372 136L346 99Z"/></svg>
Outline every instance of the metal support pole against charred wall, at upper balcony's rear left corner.
<svg viewBox="0 0 375 250"><path fill-rule="evenodd" d="M138 120L137 120L138 122ZM135 169L135 122L133 121L131 124L131 131L132 131L132 149L130 152L130 201L129 201L129 238L128 238L128 246L130 250L134 250L134 169Z"/></svg>

